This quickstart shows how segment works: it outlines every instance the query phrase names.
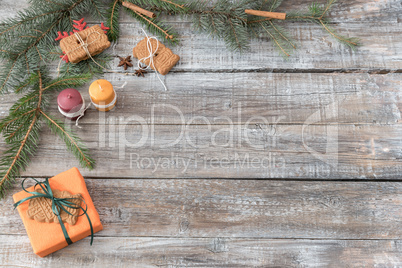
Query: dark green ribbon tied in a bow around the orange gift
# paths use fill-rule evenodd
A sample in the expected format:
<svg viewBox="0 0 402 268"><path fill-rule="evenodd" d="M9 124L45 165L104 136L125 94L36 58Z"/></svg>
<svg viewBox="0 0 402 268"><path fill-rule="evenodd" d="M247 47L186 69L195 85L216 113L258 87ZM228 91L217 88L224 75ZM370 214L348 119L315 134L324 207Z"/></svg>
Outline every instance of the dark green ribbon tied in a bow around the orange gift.
<svg viewBox="0 0 402 268"><path fill-rule="evenodd" d="M36 188L36 186L40 186L43 190L44 193L40 193L40 192L30 192L27 189L25 189L24 187L24 183L27 179L31 179L34 180L36 182L34 189ZM94 229L92 227L92 223L91 223L91 219L88 216L87 210L88 210L88 206L85 203L85 200L83 198L78 198L78 197L71 197L71 198L56 198L53 196L53 192L52 192L52 188L50 188L50 184L49 184L49 179L46 178L44 181L39 182L38 180L34 179L34 178L27 178L24 179L21 183L22 189L29 193L32 194L32 196L26 197L18 202L16 202L14 204L14 209L17 208L19 205L21 205L22 203L33 199L33 198L38 198L38 197L45 197L48 198L50 200L52 200L52 211L54 213L54 215L57 216L57 218L59 219L59 223L61 226L61 230L63 231L64 234L64 238L66 239L67 244L71 245L73 243L73 241L71 241L70 236L67 233L66 227L64 226L63 220L61 219L60 213L62 212L62 210L64 212L66 212L69 215L72 215L70 212L67 211L66 208L73 208L73 209L81 209L82 210L82 214L77 215L77 217L83 216L85 215L88 219L89 222L89 227L91 229L91 243L90 245L92 246L92 242L94 240ZM71 202L71 200L74 199L79 199L82 202L84 202L85 204L85 209L81 206L77 206L76 204L74 204L73 202ZM74 216L74 215L72 215Z"/></svg>

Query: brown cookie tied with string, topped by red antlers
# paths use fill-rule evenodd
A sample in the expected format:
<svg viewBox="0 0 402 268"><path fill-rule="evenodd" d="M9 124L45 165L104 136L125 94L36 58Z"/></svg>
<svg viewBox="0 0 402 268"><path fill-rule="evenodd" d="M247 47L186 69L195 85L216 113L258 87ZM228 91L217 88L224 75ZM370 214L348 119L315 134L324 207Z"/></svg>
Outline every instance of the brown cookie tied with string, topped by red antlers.
<svg viewBox="0 0 402 268"><path fill-rule="evenodd" d="M99 25L94 25L85 30L76 32L75 34L78 34L82 40L88 44L88 52L91 56L95 56L110 47L107 35ZM75 34L63 38L60 41L61 50L68 56L68 60L72 63L78 63L88 59L85 48Z"/></svg>

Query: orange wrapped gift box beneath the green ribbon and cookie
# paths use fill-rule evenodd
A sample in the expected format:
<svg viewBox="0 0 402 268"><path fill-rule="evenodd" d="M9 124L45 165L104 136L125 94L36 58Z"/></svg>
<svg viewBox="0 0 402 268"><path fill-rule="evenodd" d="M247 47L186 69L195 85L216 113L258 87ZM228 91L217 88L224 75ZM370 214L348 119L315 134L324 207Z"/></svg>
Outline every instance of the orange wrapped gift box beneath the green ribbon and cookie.
<svg viewBox="0 0 402 268"><path fill-rule="evenodd" d="M72 198L68 199L73 200L73 203L77 204L77 196L80 197L85 202L82 202L81 206L83 208L87 208L87 215L82 216L71 216L69 214L62 215L60 214L67 231L71 242L76 242L81 240L89 235L91 235L91 226L88 221L89 217L90 222L92 224L93 233L99 232L103 229L102 224L99 219L99 214L95 209L95 206L92 202L91 197L89 196L87 187L85 185L84 178L77 168L72 168L63 173L60 173L53 178L48 180L50 188L55 197L66 197L67 194L71 194ZM34 186L26 188L29 192L41 192L42 189L39 186ZM65 194L68 192L67 194ZM29 194L25 191L21 191L13 195L14 202L18 202L23 200L24 198L30 197L32 194ZM43 198L43 197L40 197ZM53 253L59 249L62 249L68 246L66 236L64 235L62 228L60 226L60 222L57 220L57 216L55 216L54 220L52 219L54 216L52 210L48 208L42 208L44 211L43 214L45 216L37 214L36 211L32 212L32 206L36 205L35 203L30 204L30 202L39 201L39 198L30 199L29 201L23 202L17 206L18 213L21 216L21 219L25 225L25 229L27 230L29 240L31 241L31 245L35 254L40 257L44 257L50 253ZM49 204L51 204L51 200L47 199ZM81 200L78 202L81 203ZM42 202L42 204L44 204ZM42 205L43 206L43 205ZM78 204L79 206L79 204ZM47 210L47 211L46 211ZM68 211L72 211L68 209ZM65 212L63 212L65 213ZM34 214L34 215L33 215ZM79 214L83 214L82 211L79 211ZM40 219L42 217L42 220ZM46 218L47 217L47 218ZM39 219L38 219L39 218ZM46 220L43 220L46 218ZM73 222L72 222L73 221ZM74 225L72 225L74 224Z"/></svg>

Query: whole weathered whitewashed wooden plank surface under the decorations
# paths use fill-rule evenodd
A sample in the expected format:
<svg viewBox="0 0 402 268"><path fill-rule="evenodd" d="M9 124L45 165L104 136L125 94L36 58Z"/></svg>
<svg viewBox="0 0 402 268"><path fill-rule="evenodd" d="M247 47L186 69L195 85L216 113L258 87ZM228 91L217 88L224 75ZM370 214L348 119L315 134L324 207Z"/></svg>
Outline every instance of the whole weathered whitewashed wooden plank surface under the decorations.
<svg viewBox="0 0 402 268"><path fill-rule="evenodd" d="M2 19L27 6L0 4ZM94 245L35 256L12 209L16 186L0 207L0 265L402 267L402 3L339 1L330 16L362 47L286 23L298 45L288 60L268 40L231 53L190 19L166 17L181 37L168 91L153 73L107 73L115 86L128 82L117 107L92 108L76 129L97 161L81 169L104 224ZM127 15L120 21L109 52L126 56L143 36ZM0 98L4 117L17 96ZM44 128L23 175L77 165Z"/></svg>

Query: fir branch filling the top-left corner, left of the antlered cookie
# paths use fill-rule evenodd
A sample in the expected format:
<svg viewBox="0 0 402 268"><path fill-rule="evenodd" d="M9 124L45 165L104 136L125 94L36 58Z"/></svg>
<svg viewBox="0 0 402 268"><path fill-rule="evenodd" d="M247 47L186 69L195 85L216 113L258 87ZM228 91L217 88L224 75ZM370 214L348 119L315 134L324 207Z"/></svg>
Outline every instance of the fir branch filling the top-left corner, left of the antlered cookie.
<svg viewBox="0 0 402 268"><path fill-rule="evenodd" d="M32 6L17 18L0 23L3 65L0 67L0 93L15 89L37 63L48 57L57 31L72 31L71 17L99 9L96 0L65 0L49 5L47 0L33 0ZM96 12L97 13L97 12ZM95 14L96 15L96 14ZM99 16L101 14L99 13ZM4 53L6 51L7 53Z"/></svg>

